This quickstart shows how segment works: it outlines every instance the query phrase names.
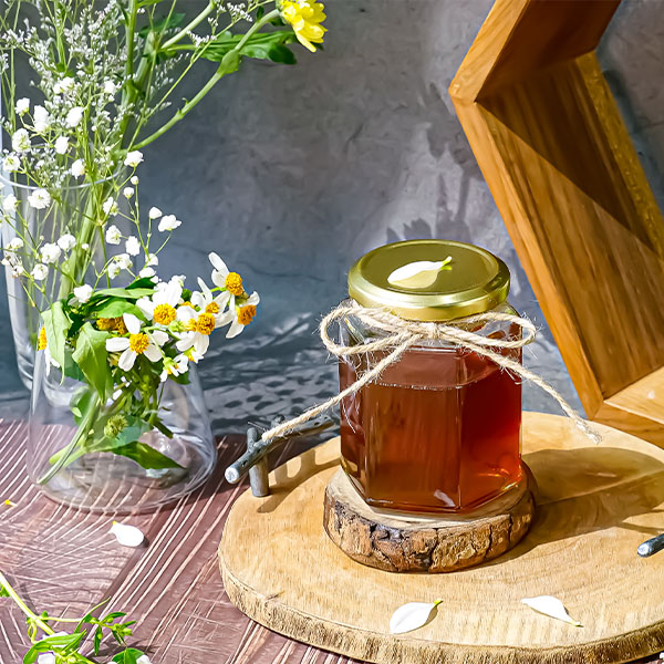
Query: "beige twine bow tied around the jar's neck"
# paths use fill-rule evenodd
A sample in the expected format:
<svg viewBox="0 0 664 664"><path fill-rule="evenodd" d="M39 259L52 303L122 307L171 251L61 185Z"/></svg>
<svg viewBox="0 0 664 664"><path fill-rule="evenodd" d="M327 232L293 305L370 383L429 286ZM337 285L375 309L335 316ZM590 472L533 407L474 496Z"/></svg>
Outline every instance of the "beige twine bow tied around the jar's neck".
<svg viewBox="0 0 664 664"><path fill-rule="evenodd" d="M367 341L356 345L341 345L330 336L330 325L334 321L347 318L349 315L355 317L366 325L382 330L386 334L374 341ZM494 339L490 336L484 336L483 334L477 334L476 332L470 332L468 329L477 329L477 325L484 326L491 322L509 322L516 324L521 329L521 336L519 339ZM313 406L309 411L304 411L304 413L301 415L298 415L292 419L283 422L282 424L268 429L261 436L261 440L269 442L274 438L282 437L292 432L300 424L318 417L325 411L334 407L346 396L355 394L362 390L364 385L367 385L372 381L376 380L383 373L383 371L387 369L387 366L397 362L409 347L425 340L446 342L466 349L477 353L478 355L488 357L498 366L512 372L525 381L535 383L538 387L551 395L558 402L563 413L570 419L572 419L575 426L581 429L593 443L599 443L601 440L601 436L589 426L585 419L582 419L579 416L574 408L572 408L567 401L564 401L562 395L554 387L549 385L549 383L543 381L536 373L522 366L520 362L517 362L511 357L506 357L496 350L492 350L520 349L535 341L537 329L528 319L511 313L488 311L477 315L455 319L454 324L407 321L383 309L367 309L357 304L357 302L352 301L350 304L339 305L336 309L333 309L328 315L325 315L325 318L323 318L321 321L319 331L321 334L321 340L325 344L328 351L338 357L361 355L364 353L385 350L390 350L390 352L380 362L377 362L373 369L370 369L360 375L357 380L349 385L345 390L342 390L339 394L332 396L322 404Z"/></svg>

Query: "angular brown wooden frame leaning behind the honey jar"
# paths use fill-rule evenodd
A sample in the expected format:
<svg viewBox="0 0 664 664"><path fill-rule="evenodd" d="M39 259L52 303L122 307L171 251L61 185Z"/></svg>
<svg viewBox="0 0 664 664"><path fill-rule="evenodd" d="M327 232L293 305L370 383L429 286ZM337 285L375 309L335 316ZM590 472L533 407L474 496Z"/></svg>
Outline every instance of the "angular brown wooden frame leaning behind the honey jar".
<svg viewBox="0 0 664 664"><path fill-rule="evenodd" d="M497 0L449 92L587 415L664 447L664 219L594 54L620 0Z"/></svg>

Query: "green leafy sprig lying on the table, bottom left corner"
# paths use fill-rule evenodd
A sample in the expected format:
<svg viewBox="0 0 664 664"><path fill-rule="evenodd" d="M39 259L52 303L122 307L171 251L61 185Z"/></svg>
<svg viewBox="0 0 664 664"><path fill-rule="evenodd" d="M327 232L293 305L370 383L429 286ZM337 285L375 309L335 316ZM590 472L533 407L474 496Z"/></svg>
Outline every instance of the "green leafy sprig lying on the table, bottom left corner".
<svg viewBox="0 0 664 664"><path fill-rule="evenodd" d="M0 598L6 596L21 609L27 616L27 632L32 644L23 655L23 664L32 664L43 653L53 653L59 663L66 664L97 664L94 657L98 656L102 643L108 636L112 636L115 643L122 646L122 651L113 656L113 662L117 664L137 664L148 662L143 651L126 645L126 640L132 635L132 626L136 621L124 621L126 613L113 611L101 618L93 615L106 602L93 606L85 615L77 619L53 618L45 611L39 615L32 611L21 599L17 591L11 587L7 577L0 572ZM75 623L73 632L55 632L51 623ZM43 632L45 636L39 636ZM89 650L87 641L92 637L92 655L83 654Z"/></svg>

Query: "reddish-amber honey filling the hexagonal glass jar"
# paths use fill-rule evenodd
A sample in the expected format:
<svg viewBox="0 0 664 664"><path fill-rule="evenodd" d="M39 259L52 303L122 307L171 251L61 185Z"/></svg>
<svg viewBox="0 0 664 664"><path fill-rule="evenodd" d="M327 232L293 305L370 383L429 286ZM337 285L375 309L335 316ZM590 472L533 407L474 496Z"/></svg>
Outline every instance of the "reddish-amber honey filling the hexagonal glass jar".
<svg viewBox="0 0 664 664"><path fill-rule="evenodd" d="M367 361L340 363L342 390ZM473 510L519 483L520 442L520 383L458 349L413 349L341 405L343 468L376 507Z"/></svg>

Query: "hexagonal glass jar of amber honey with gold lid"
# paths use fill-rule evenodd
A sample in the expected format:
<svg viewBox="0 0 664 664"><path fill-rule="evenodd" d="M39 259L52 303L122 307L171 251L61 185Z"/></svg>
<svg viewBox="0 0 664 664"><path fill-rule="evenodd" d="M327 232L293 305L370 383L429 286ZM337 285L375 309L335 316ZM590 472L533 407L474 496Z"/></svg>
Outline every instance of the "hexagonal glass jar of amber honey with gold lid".
<svg viewBox="0 0 664 664"><path fill-rule="evenodd" d="M409 266L429 269L393 279ZM409 240L357 260L349 273L349 294L361 307L383 308L405 321L437 321L491 339L519 339L521 329L510 321L459 320L484 312L516 314L507 302L509 283L507 266L485 249ZM386 334L353 315L340 326L346 346ZM494 350L521 362L520 349ZM388 352L341 357L341 390ZM418 342L378 378L347 395L340 414L342 467L374 507L464 513L523 480L520 381L458 345Z"/></svg>

